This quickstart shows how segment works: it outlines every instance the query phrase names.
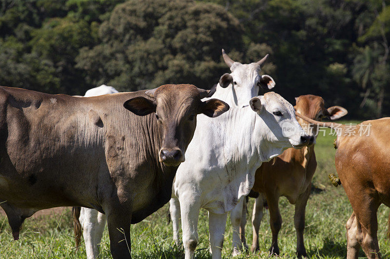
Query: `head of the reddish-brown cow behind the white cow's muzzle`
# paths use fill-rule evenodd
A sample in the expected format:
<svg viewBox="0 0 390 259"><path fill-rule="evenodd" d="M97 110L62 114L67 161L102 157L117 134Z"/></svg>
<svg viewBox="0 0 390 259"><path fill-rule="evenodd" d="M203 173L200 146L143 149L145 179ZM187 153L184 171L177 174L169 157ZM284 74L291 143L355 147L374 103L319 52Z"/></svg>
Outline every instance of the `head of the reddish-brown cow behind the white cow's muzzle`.
<svg viewBox="0 0 390 259"><path fill-rule="evenodd" d="M315 121L321 121L322 118L328 118L333 121L348 113L348 111L341 106L331 106L328 109L325 108L324 99L320 96L311 94L295 97L295 103L294 109L296 112ZM301 118L297 119L307 134L313 136L312 144L315 144L318 133L318 125L311 124Z"/></svg>

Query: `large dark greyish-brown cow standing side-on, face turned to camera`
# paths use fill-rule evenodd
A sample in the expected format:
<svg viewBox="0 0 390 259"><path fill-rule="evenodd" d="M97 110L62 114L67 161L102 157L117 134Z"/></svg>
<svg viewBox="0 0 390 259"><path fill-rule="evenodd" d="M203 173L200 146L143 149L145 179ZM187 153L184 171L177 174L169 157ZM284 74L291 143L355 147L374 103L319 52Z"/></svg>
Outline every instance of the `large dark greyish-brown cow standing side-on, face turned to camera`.
<svg viewBox="0 0 390 259"><path fill-rule="evenodd" d="M1 86L0 202L14 239L40 209L90 207L107 216L113 258L129 258L130 223L169 201L196 114L229 108L202 102L207 94L164 85L78 98Z"/></svg>

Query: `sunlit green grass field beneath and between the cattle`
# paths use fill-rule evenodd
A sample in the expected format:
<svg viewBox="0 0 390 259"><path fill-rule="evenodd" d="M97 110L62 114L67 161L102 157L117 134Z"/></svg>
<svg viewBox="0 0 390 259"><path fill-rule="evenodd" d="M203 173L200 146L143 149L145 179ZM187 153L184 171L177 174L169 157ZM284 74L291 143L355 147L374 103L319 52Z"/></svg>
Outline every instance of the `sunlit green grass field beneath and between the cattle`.
<svg viewBox="0 0 390 259"><path fill-rule="evenodd" d="M341 121L353 123L356 121ZM310 258L342 259L346 258L345 223L351 215L351 205L343 188L335 188L328 179L329 173L336 173L334 167L333 139L329 136L319 136L315 146L317 156L317 171L314 174L313 186L306 208L305 246ZM252 215L254 200L250 199L248 210ZM295 258L296 236L293 224L294 207L286 198L280 200L283 218L279 233L279 248L281 258ZM177 248L172 239L172 224L167 220L168 205L139 224L132 225L132 255L133 258L184 258L184 250ZM389 208L383 205L378 211L378 238L382 256L390 257L389 240L386 238ZM248 216L246 235L249 245L252 241L252 226ZM271 245L271 230L269 213L265 212L260 226L261 252L252 255L242 254L236 258L268 258L267 250ZM208 219L207 212L201 210L199 215L199 244L196 251L198 259L211 258L208 250ZM32 217L26 219L20 232L20 240L13 241L7 219L0 217L0 258L85 258L85 249L80 247L75 253L72 218L69 209L62 214L52 216ZM232 229L230 220L226 226L223 257L231 258ZM107 228L101 243L103 258L111 258ZM361 251L361 258L365 258Z"/></svg>

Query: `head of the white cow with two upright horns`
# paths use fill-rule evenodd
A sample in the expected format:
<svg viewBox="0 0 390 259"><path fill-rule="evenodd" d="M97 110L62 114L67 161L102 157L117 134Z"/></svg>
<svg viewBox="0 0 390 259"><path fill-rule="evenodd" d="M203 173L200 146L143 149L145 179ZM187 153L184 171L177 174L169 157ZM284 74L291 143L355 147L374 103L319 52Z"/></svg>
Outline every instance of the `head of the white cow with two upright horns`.
<svg viewBox="0 0 390 259"><path fill-rule="evenodd" d="M233 61L222 49L222 56L226 65L232 73L225 73L219 79L219 86L232 91L231 100L228 101L232 107L241 108L247 106L249 100L257 96L259 87L272 89L275 81L269 75L260 75L260 66L268 58L268 54L261 60L251 64L241 64Z"/></svg>

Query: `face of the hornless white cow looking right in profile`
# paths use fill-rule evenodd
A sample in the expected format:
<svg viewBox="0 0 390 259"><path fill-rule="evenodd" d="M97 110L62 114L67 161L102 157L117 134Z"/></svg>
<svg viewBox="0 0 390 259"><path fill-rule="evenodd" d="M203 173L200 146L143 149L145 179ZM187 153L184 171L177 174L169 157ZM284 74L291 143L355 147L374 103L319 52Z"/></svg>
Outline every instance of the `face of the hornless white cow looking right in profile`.
<svg viewBox="0 0 390 259"><path fill-rule="evenodd" d="M268 92L264 96L252 98L249 103L268 126L265 129L255 128L254 130L258 131L256 134L266 136L275 147L302 148L309 144L312 137L308 136L299 125L292 105L279 94Z"/></svg>

